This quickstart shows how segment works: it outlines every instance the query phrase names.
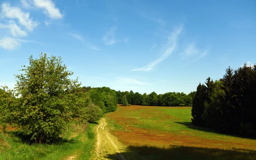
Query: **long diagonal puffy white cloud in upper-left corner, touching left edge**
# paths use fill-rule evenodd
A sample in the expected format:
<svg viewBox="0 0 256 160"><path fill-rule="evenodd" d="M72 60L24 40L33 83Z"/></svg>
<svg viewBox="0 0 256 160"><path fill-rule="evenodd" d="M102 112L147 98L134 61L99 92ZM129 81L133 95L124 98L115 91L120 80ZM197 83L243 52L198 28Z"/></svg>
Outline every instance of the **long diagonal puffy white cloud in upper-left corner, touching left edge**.
<svg viewBox="0 0 256 160"><path fill-rule="evenodd" d="M3 3L1 10L3 17L17 19L20 24L25 26L29 31L33 31L33 29L40 24L30 18L29 12L25 13L18 7L12 7L9 3Z"/></svg>

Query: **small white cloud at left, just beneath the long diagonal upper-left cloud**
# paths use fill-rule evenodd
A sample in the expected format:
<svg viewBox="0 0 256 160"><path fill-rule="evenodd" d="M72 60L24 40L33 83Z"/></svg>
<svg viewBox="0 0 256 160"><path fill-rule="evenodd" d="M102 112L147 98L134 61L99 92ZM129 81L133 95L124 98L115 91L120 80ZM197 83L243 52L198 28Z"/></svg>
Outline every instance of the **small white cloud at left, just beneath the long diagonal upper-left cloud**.
<svg viewBox="0 0 256 160"><path fill-rule="evenodd" d="M27 32L21 30L19 26L17 26L16 22L14 20L9 20L9 24L1 24L0 28L2 29L9 29L12 36L18 37L18 36L27 36Z"/></svg>

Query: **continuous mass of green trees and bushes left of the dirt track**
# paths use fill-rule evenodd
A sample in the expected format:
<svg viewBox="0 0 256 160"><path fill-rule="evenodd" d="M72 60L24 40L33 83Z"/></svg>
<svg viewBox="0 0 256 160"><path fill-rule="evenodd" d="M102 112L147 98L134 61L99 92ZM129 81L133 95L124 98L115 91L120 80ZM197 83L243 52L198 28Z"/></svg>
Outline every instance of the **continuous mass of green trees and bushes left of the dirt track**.
<svg viewBox="0 0 256 160"><path fill-rule="evenodd" d="M16 75L14 90L0 88L0 124L15 126L19 134L37 143L52 142L71 124L95 122L116 110L115 91L108 87L80 87L61 57L29 58Z"/></svg>

